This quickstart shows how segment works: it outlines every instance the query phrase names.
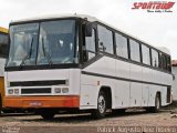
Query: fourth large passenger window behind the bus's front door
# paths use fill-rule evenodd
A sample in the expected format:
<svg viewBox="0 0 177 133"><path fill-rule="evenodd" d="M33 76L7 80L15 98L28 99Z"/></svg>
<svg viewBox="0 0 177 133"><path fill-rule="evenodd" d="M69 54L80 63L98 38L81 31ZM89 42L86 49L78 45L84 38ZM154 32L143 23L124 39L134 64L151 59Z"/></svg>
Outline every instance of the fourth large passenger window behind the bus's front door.
<svg viewBox="0 0 177 133"><path fill-rule="evenodd" d="M150 65L150 50L144 44L142 44L142 59L144 64Z"/></svg>

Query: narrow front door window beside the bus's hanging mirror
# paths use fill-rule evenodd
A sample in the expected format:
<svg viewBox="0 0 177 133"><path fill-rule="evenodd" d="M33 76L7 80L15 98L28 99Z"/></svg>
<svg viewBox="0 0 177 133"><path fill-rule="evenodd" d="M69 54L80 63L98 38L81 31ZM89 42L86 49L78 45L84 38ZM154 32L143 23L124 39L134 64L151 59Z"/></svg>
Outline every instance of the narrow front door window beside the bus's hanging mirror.
<svg viewBox="0 0 177 133"><path fill-rule="evenodd" d="M87 60L95 57L95 30L92 29L92 37L85 37L85 49Z"/></svg>

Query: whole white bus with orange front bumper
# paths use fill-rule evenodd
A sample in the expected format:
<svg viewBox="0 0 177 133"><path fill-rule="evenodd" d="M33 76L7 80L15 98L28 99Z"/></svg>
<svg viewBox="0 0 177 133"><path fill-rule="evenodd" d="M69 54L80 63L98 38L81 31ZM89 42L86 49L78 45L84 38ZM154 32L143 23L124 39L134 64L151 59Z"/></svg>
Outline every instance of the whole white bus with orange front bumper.
<svg viewBox="0 0 177 133"><path fill-rule="evenodd" d="M88 16L50 16L10 23L7 108L34 109L43 119L61 110L145 108L171 102L167 50Z"/></svg>

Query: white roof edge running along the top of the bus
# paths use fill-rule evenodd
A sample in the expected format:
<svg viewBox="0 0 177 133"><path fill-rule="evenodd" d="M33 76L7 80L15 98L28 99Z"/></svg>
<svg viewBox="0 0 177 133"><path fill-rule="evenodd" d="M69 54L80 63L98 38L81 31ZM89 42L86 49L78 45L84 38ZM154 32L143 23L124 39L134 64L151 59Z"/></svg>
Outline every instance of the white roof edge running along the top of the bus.
<svg viewBox="0 0 177 133"><path fill-rule="evenodd" d="M95 21L96 22L101 22L101 23L103 23L103 24L105 24L105 25L107 25L107 27L110 27L112 29L115 29L115 30L122 32L123 34L126 34L126 35L128 35L128 37L131 37L131 38L133 38L135 40L140 41L142 43L148 44L148 45L150 45L150 47L153 47L153 48L155 48L155 49L157 49L157 50L170 55L170 51L167 48L158 49L158 48L147 43L146 41L138 39L137 37L134 37L134 35L132 35L129 33L126 33L125 31L122 31L122 30L119 30L119 29L117 29L117 28L115 28L115 27L113 27L113 25L111 25L111 24L108 24L106 22L103 22L103 21L96 19L95 17L91 17L91 16L87 16L87 14L76 14L76 13L75 14L49 14L49 16L40 16L40 17L33 17L33 18L28 18L28 19L14 20L11 23L13 23L13 22L14 23L28 22L28 21L35 21L35 20L37 21L38 20L49 20L49 19L58 19L58 18L59 19L60 18L81 18L81 19L86 19L90 22L95 22Z"/></svg>

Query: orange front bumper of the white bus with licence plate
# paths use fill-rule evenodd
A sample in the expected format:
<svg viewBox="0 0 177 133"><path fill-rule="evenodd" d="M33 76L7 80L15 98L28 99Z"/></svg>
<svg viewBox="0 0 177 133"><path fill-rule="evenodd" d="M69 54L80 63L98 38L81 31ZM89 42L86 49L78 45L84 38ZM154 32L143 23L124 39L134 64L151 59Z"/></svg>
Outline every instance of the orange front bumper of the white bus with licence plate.
<svg viewBox="0 0 177 133"><path fill-rule="evenodd" d="M80 96L6 96L4 108L79 108Z"/></svg>

